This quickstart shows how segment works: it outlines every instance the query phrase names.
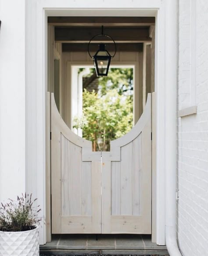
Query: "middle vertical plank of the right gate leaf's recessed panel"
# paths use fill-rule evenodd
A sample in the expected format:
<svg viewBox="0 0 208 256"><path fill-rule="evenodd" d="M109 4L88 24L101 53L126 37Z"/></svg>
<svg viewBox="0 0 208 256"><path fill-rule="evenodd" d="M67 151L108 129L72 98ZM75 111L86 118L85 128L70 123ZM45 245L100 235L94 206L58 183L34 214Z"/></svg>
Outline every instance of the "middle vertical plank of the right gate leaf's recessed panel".
<svg viewBox="0 0 208 256"><path fill-rule="evenodd" d="M121 148L121 215L132 215L132 142Z"/></svg>

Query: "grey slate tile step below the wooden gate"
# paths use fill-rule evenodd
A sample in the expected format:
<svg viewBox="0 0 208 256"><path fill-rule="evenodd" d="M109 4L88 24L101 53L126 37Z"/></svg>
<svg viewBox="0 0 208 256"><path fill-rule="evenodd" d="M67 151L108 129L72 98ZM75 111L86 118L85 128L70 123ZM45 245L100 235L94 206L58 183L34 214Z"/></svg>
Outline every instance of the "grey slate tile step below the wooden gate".
<svg viewBox="0 0 208 256"><path fill-rule="evenodd" d="M139 251L138 251L139 250ZM62 254L55 254L60 252ZM63 254L65 251L65 254ZM53 252L53 254L48 254ZM165 246L151 242L151 235L133 234L62 234L53 235L52 241L40 246L42 255L80 254L136 254L136 255L168 255ZM143 253L143 254L140 254Z"/></svg>

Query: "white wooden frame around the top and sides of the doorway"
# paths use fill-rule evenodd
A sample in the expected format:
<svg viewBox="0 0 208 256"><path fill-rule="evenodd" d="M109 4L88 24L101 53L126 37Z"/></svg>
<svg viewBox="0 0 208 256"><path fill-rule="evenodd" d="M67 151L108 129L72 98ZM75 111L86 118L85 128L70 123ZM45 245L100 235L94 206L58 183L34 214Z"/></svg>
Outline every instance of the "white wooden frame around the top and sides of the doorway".
<svg viewBox="0 0 208 256"><path fill-rule="evenodd" d="M47 16L155 16L155 91L157 95L157 234L158 245L165 244L165 1L147 0L32 0L26 17L26 184L38 197L46 216L46 91L47 91ZM129 8L129 5L131 8ZM168 17L166 18L168 19ZM32 32L31 32L32 30ZM171 65L167 60L166 63ZM32 99L32 100L31 100ZM35 141L35 145L31 142ZM30 176L36 177L36 183ZM32 181L34 182L34 180ZM46 226L40 229L40 244L46 243Z"/></svg>

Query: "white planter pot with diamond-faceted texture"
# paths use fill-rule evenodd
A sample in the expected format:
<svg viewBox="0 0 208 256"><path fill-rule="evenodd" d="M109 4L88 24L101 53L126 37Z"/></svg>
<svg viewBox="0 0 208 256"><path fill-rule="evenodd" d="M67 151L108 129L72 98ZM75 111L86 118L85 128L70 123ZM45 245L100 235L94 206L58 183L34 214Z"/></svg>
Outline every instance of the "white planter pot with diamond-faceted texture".
<svg viewBox="0 0 208 256"><path fill-rule="evenodd" d="M0 256L39 256L38 226L29 231L0 231Z"/></svg>

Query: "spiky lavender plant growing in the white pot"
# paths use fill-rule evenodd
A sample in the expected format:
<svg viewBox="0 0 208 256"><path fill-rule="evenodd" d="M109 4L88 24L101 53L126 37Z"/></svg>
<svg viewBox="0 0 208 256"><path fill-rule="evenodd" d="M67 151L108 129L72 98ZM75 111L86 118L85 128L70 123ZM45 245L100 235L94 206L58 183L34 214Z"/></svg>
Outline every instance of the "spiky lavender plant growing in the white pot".
<svg viewBox="0 0 208 256"><path fill-rule="evenodd" d="M0 208L0 231L26 231L35 228L41 219L37 215L40 209L33 206L32 194L17 197L15 202L9 199L7 204L1 203ZM39 208L39 206L37 206Z"/></svg>

